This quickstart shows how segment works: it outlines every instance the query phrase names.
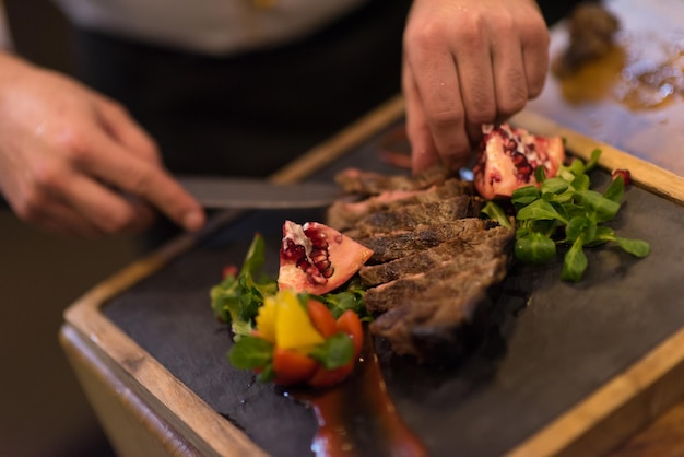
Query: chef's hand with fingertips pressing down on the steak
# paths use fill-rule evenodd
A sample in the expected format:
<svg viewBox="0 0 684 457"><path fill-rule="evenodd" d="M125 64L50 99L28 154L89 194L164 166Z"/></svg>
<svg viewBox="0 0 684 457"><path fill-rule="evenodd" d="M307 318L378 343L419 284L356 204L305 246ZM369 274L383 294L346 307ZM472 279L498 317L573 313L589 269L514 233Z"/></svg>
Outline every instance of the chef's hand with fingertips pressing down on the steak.
<svg viewBox="0 0 684 457"><path fill-rule="evenodd" d="M549 30L533 0L415 0L404 31L402 86L412 167L468 163L482 124L540 94Z"/></svg>

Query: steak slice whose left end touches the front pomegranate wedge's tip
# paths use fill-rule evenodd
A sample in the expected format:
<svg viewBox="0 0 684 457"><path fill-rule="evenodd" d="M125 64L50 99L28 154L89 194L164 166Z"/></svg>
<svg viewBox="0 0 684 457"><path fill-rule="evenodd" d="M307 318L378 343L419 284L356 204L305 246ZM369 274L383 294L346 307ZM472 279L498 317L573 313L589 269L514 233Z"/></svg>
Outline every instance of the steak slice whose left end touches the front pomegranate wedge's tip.
<svg viewBox="0 0 684 457"><path fill-rule="evenodd" d="M346 233L362 245L373 249L369 263L380 263L435 247L458 236L465 236L468 232L480 233L495 226L498 224L488 219L465 218L449 223L418 225L414 230L393 231L367 237Z"/></svg>

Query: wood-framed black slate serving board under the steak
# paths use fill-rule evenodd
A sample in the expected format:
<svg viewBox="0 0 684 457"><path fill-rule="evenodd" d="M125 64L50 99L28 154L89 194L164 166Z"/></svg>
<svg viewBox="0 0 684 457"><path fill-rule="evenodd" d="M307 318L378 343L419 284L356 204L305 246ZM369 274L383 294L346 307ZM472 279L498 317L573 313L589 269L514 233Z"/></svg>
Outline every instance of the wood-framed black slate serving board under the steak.
<svg viewBox="0 0 684 457"><path fill-rule="evenodd" d="M328 180L346 166L397 173L379 151L402 114L402 99L390 101L273 179ZM579 284L558 280L559 262L516 266L486 342L451 370L393 356L376 341L389 394L432 456L598 455L684 397L683 179L532 113L515 122L563 134L580 156L599 147L608 168L628 160L639 186L613 226L649 241L652 254L637 260L611 247L592 250ZM605 185L609 174L592 179ZM264 235L273 269L283 220L322 216L219 214L203 233L85 294L67 310L62 340L92 347L123 383L117 391L134 394L176 436L175 453L309 455L312 412L231 366L229 336L212 316L209 290L225 265L241 262L255 232Z"/></svg>

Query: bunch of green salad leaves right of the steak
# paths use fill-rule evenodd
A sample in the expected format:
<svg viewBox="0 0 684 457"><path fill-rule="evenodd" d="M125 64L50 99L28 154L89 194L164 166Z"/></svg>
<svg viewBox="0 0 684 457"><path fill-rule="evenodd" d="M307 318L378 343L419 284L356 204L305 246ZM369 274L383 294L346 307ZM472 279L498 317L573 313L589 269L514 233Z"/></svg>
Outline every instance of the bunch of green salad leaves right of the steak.
<svg viewBox="0 0 684 457"><path fill-rule="evenodd" d="M590 169L597 166L600 150L591 153L586 164L575 159L562 166L555 177L546 178L535 173L541 186L524 186L512 192L510 202L516 213L516 259L526 263L545 263L556 257L556 245L569 245L563 259L561 279L578 282L587 267L585 248L614 242L625 253L647 257L650 244L641 239L628 239L615 235L613 228L603 225L620 211L625 196L625 181L616 176L601 194L591 190ZM488 201L482 212L502 225L510 226L506 212Z"/></svg>

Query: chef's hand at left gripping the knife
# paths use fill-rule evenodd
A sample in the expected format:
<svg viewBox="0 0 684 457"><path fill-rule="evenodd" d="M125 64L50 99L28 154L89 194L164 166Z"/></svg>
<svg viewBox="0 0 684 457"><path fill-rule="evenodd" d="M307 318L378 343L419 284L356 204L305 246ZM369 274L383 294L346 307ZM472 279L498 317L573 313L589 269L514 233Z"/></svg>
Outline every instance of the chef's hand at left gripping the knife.
<svg viewBox="0 0 684 457"><path fill-rule="evenodd" d="M155 209L187 230L201 207L113 101L0 52L0 191L20 219L76 235L140 231Z"/></svg>

